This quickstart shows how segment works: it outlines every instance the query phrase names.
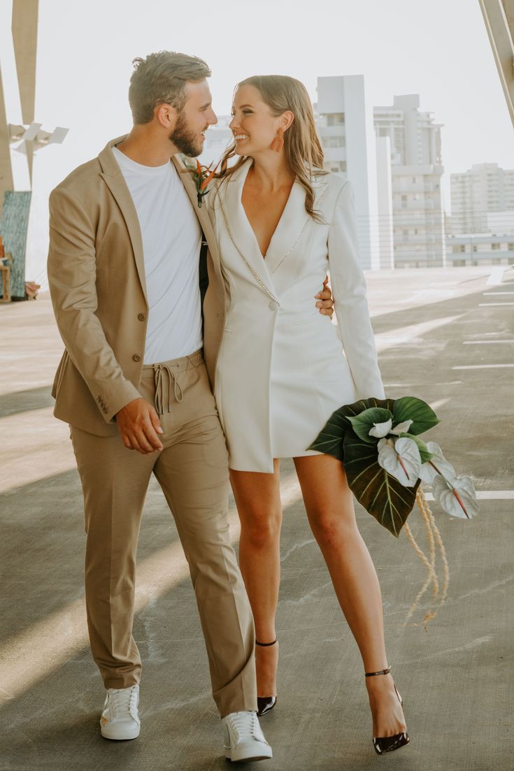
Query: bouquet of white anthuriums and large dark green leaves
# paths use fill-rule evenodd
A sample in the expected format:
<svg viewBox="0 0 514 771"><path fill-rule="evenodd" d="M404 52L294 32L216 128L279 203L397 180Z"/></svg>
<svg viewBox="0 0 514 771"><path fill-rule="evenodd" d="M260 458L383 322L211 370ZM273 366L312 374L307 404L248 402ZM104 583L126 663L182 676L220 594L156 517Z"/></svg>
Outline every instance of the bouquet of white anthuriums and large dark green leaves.
<svg viewBox="0 0 514 771"><path fill-rule="evenodd" d="M413 396L362 399L336 409L308 448L338 458L344 464L348 485L359 503L394 536L404 527L418 557L428 568L428 578L407 618L414 613L430 584L433 584L433 602L438 598L436 544L444 566L439 605L445 601L448 591L445 548L421 482L431 485L435 502L451 516L471 519L478 513L475 487L469 476L458 476L441 447L420 438L438 423L434 410ZM428 557L406 524L414 503L418 503L424 518L430 547ZM429 610L424 621L434 617L435 611Z"/></svg>

